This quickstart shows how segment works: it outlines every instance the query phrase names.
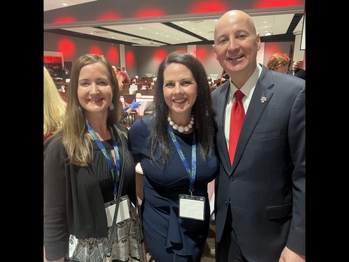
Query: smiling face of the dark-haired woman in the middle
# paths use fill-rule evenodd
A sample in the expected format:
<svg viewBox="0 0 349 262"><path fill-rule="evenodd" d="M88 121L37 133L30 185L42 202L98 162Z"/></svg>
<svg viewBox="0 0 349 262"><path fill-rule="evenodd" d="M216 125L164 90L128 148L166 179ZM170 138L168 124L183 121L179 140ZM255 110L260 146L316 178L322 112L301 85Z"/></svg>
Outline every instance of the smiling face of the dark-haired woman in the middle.
<svg viewBox="0 0 349 262"><path fill-rule="evenodd" d="M163 72L163 96L170 112L190 115L197 94L198 84L189 68L176 63L165 68Z"/></svg>

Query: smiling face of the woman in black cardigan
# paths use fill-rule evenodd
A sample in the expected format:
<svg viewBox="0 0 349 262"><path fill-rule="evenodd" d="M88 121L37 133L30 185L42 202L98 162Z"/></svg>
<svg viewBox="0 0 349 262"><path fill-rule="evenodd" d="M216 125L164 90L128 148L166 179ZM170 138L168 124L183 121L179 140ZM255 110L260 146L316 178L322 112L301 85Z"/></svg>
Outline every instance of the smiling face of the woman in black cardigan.
<svg viewBox="0 0 349 262"><path fill-rule="evenodd" d="M87 114L107 112L112 103L112 87L103 64L98 62L81 68L77 96Z"/></svg>

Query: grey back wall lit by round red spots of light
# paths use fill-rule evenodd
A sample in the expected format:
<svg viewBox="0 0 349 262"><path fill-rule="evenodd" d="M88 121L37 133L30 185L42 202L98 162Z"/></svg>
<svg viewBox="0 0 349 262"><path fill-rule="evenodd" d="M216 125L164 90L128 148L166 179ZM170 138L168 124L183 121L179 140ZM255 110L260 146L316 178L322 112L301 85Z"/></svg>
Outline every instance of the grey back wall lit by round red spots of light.
<svg viewBox="0 0 349 262"><path fill-rule="evenodd" d="M294 42L274 42L265 43L262 64L265 66L269 57L274 52L284 52L290 55L290 47L294 48ZM221 75L222 68L214 58L212 45L168 45L163 47L133 47L124 45L124 60L128 75L140 78L146 76L146 73L156 75L158 65L173 51L191 52L205 66L207 74ZM104 41L95 41L90 39L78 38L73 36L64 36L44 32L44 51L63 52L64 61L75 61L77 57L87 53L103 54L114 66L120 65L120 45L117 43L108 43Z"/></svg>

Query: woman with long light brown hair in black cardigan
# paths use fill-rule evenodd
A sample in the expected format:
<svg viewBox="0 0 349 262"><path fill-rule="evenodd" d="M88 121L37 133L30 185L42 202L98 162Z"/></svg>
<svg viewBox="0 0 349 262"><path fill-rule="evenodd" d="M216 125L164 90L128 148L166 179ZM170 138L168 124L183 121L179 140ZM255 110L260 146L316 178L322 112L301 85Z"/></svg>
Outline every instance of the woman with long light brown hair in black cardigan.
<svg viewBox="0 0 349 262"><path fill-rule="evenodd" d="M142 261L135 163L127 129L118 124L119 87L110 63L97 54L77 59L68 97L62 131L44 145L45 257L104 261L113 238L111 259ZM116 203L124 216L111 234Z"/></svg>

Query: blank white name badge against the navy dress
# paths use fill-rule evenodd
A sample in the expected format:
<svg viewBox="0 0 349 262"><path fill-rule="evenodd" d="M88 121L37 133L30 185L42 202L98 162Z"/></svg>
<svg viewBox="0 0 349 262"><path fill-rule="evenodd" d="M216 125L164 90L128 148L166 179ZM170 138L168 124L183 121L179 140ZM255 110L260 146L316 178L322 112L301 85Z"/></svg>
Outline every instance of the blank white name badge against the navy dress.
<svg viewBox="0 0 349 262"><path fill-rule="evenodd" d="M205 220L205 198L180 194L179 217Z"/></svg>

